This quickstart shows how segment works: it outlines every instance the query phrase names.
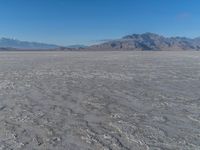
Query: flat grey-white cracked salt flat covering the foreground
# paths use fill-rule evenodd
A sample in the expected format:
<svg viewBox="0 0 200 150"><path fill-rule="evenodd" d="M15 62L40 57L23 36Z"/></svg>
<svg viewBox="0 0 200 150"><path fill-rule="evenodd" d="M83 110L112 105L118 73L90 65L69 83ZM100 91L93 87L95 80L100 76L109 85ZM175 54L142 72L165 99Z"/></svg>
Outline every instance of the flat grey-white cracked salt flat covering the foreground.
<svg viewBox="0 0 200 150"><path fill-rule="evenodd" d="M199 52L1 52L0 150L199 150Z"/></svg>

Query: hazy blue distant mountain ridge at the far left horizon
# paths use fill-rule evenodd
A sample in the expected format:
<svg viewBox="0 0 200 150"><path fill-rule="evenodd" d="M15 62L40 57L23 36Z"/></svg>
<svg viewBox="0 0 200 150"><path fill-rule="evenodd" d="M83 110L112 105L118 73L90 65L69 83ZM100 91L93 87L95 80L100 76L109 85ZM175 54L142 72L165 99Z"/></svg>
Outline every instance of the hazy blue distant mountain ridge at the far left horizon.
<svg viewBox="0 0 200 150"><path fill-rule="evenodd" d="M38 42L28 42L28 41L20 41L16 39L9 38L1 38L0 39L0 47L1 49L56 49L60 46L53 44L45 44Z"/></svg>

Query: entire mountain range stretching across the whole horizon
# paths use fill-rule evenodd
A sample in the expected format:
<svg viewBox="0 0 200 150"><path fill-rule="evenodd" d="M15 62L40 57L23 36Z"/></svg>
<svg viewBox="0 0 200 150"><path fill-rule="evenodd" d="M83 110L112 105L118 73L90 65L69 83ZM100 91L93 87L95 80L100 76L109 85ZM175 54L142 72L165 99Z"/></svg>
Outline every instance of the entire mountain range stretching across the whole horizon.
<svg viewBox="0 0 200 150"><path fill-rule="evenodd" d="M92 46L72 45L58 46L38 42L20 41L9 38L0 39L0 50L61 50L61 51L108 51L108 50L132 50L132 51L185 51L200 50L199 38L164 37L155 33L132 34L120 39Z"/></svg>

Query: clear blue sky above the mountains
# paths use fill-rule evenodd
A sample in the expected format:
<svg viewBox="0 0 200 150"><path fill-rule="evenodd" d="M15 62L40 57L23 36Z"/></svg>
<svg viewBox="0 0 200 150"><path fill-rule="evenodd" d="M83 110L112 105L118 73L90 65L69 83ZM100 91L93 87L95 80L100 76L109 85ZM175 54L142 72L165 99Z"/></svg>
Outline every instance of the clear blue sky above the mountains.
<svg viewBox="0 0 200 150"><path fill-rule="evenodd" d="M0 37L91 45L128 34L200 36L200 0L0 0Z"/></svg>

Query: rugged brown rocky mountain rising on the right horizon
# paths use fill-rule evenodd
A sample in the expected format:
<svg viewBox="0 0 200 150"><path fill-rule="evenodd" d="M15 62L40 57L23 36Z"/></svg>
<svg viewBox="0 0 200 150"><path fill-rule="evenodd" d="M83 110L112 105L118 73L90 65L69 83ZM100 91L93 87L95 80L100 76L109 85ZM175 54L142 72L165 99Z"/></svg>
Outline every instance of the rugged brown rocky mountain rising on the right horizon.
<svg viewBox="0 0 200 150"><path fill-rule="evenodd" d="M200 50L200 38L164 37L154 33L132 34L118 40L93 45L91 50Z"/></svg>

